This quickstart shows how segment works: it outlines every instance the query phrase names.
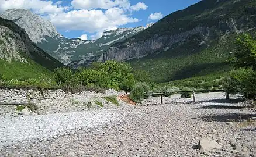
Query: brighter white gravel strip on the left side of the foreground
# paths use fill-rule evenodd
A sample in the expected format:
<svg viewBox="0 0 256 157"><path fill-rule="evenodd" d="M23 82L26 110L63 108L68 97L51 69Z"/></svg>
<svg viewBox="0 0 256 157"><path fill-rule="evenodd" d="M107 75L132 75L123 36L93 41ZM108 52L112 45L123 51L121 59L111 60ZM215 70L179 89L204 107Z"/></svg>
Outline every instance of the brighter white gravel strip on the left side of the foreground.
<svg viewBox="0 0 256 157"><path fill-rule="evenodd" d="M117 118L118 117L118 118ZM94 128L120 120L111 110L36 115L19 118L0 117L0 145L22 140L51 138L68 130Z"/></svg>

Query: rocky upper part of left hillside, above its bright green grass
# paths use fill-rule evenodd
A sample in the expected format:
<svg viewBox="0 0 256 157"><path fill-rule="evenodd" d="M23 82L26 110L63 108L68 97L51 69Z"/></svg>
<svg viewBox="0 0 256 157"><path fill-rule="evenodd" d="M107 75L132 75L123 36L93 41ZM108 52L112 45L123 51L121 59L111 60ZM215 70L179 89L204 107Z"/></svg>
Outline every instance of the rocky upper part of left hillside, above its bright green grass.
<svg viewBox="0 0 256 157"><path fill-rule="evenodd" d="M28 59L31 59L50 70L63 66L37 47L25 30L11 20L2 18L0 18L0 59L22 63L28 63Z"/></svg>

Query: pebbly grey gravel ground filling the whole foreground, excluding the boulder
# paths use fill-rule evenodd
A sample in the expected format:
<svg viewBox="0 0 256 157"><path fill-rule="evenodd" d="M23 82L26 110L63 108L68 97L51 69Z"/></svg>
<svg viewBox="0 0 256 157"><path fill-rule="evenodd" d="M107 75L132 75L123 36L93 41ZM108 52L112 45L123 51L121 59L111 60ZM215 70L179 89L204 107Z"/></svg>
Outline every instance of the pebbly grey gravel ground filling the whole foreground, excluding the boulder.
<svg viewBox="0 0 256 157"><path fill-rule="evenodd" d="M0 156L256 156L256 113L224 98L172 95L162 105L150 97L136 106L0 117ZM200 139L219 148L202 151Z"/></svg>

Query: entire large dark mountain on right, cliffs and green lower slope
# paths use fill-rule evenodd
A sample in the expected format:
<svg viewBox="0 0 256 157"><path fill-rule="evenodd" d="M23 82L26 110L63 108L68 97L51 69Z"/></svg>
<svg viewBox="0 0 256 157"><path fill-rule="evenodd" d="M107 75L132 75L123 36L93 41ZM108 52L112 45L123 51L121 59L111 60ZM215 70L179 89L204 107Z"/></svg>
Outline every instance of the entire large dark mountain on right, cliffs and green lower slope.
<svg viewBox="0 0 256 157"><path fill-rule="evenodd" d="M113 44L94 61L130 62L158 83L226 72L234 38L255 26L255 0L202 0Z"/></svg>

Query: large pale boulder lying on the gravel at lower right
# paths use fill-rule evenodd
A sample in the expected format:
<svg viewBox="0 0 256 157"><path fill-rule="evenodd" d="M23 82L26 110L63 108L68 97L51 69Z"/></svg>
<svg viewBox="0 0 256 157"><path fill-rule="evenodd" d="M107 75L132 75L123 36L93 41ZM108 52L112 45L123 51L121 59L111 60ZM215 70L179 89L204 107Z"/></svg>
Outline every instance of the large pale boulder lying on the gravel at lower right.
<svg viewBox="0 0 256 157"><path fill-rule="evenodd" d="M208 153L213 149L220 149L222 146L216 141L210 140L209 138L201 138L198 143L198 148L201 152Z"/></svg>

